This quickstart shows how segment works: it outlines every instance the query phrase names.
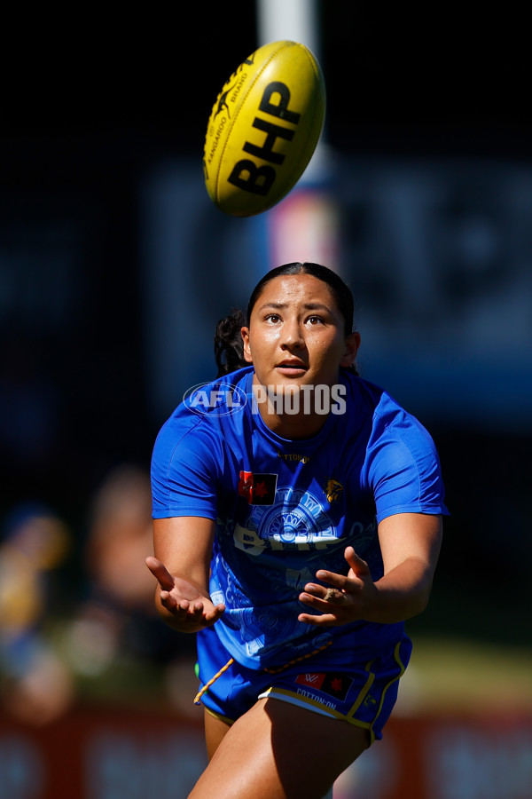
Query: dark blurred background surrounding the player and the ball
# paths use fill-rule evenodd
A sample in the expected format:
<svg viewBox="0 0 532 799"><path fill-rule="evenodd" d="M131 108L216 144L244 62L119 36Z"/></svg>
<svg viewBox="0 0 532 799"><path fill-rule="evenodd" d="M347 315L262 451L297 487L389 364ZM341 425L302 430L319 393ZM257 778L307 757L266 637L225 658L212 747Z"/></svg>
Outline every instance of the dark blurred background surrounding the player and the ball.
<svg viewBox="0 0 532 799"><path fill-rule="evenodd" d="M388 741L335 797L530 799L522 13L350 0L5 13L0 797L190 790L205 761L193 640L154 618L144 566L153 440L215 376L216 320L297 259L353 289L362 374L433 434L452 514ZM323 67L324 136L285 201L225 217L203 184L207 118L239 63L281 38Z"/></svg>

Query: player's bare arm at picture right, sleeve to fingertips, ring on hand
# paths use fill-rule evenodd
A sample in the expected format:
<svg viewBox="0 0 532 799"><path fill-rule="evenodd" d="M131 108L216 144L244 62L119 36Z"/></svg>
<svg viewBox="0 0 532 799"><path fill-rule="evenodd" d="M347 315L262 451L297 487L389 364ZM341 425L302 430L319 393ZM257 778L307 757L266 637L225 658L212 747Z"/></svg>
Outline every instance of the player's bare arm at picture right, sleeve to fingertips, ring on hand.
<svg viewBox="0 0 532 799"><path fill-rule="evenodd" d="M397 513L379 524L384 576L373 582L367 564L348 547L347 576L320 570L317 583L305 586L300 600L321 615L301 613L300 621L321 625L364 619L394 623L426 608L442 543L442 518L423 513Z"/></svg>

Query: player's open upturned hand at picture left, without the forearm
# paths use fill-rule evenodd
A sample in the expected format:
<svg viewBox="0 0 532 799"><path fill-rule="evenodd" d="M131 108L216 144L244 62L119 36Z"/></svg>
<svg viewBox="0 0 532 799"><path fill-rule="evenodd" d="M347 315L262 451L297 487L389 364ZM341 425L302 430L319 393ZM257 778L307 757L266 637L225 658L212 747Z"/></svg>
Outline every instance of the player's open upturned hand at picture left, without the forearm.
<svg viewBox="0 0 532 799"><path fill-rule="evenodd" d="M160 615L171 627L179 632L197 632L218 621L225 605L213 605L207 591L170 574L158 558L146 558L146 566L159 582L157 598L164 608Z"/></svg>

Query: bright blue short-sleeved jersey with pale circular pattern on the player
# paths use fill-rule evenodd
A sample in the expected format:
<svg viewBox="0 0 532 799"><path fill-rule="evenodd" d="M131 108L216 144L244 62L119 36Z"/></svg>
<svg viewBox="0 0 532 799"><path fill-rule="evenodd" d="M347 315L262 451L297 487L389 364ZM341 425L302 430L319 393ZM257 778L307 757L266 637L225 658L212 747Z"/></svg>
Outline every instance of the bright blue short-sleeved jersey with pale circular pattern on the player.
<svg viewBox="0 0 532 799"><path fill-rule="evenodd" d="M215 520L209 592L226 605L215 631L239 663L281 666L331 643L348 660L354 642L369 659L400 639L402 623L315 628L298 621L311 612L298 596L320 568L348 573L348 545L379 580L381 519L447 513L434 443L386 392L345 370L344 412L312 439L283 439L262 422L252 380L249 367L203 386L164 424L153 518Z"/></svg>

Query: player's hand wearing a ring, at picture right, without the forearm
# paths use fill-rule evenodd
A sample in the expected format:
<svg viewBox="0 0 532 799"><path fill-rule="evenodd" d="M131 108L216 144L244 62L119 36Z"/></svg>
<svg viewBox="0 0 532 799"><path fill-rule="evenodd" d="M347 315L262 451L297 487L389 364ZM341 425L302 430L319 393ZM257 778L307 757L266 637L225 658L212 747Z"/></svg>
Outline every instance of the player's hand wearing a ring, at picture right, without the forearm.
<svg viewBox="0 0 532 799"><path fill-rule="evenodd" d="M300 613L299 621L316 627L338 627L349 621L364 619L379 591L372 580L369 566L359 558L353 547L345 551L349 571L347 576L320 569L317 580L330 586L327 588L316 582L308 582L299 599L319 614Z"/></svg>

